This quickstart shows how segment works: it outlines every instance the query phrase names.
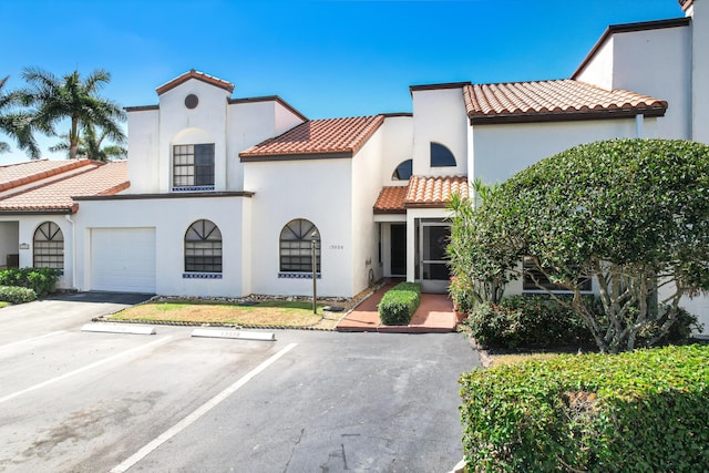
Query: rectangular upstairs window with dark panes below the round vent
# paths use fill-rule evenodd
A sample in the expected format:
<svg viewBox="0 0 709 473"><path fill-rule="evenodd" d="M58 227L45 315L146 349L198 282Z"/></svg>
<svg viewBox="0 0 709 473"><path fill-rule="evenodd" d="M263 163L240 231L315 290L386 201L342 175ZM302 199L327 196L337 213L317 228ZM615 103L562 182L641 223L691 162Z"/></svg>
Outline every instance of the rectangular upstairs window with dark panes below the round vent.
<svg viewBox="0 0 709 473"><path fill-rule="evenodd" d="M214 185L214 143L173 146L173 187Z"/></svg>

